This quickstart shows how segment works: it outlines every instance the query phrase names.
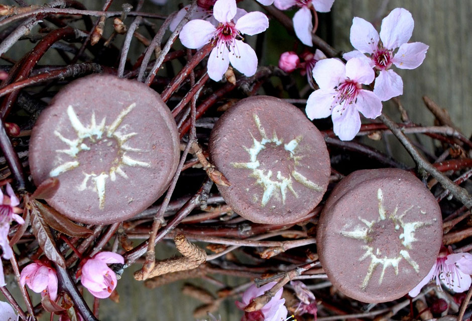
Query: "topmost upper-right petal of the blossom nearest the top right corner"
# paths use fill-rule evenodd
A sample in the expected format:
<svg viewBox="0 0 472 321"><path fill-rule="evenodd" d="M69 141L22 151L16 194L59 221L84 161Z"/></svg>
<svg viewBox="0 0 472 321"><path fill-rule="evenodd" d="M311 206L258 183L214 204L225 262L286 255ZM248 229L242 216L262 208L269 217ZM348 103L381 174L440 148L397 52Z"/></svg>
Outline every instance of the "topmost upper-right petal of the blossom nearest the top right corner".
<svg viewBox="0 0 472 321"><path fill-rule="evenodd" d="M380 39L384 47L390 50L408 42L413 33L415 22L410 12L403 8L396 8L382 20Z"/></svg>

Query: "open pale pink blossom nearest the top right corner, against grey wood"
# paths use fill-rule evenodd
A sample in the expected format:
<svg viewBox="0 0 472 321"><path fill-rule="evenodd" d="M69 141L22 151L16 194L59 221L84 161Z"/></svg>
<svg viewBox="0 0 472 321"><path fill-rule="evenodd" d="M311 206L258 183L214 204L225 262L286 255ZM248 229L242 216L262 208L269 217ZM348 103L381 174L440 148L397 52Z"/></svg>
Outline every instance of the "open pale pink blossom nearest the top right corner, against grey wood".
<svg viewBox="0 0 472 321"><path fill-rule="evenodd" d="M357 50L345 53L343 58L366 57L369 63L380 70L375 80L374 93L388 100L403 93L403 80L390 69L392 64L400 69L415 69L423 63L429 46L422 42L407 43L414 27L413 17L403 8L396 8L382 20L379 33L366 20L354 17L350 28L350 42ZM382 42L381 42L382 41ZM395 49L398 51L394 53Z"/></svg>

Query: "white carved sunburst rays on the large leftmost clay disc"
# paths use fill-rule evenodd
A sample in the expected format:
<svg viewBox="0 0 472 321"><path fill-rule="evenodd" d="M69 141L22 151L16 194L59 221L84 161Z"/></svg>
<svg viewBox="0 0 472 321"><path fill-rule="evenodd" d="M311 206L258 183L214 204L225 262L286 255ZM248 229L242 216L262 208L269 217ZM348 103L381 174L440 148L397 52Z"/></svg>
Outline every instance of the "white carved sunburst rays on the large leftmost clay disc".
<svg viewBox="0 0 472 321"><path fill-rule="evenodd" d="M141 151L140 149L126 145L126 142L133 136L137 135L137 133L124 134L120 131L117 131L125 117L135 108L135 106L136 103L132 103L123 111L121 111L121 113L113 120L113 122L111 122L110 125L105 125L105 117L99 124L97 124L95 120L95 113L92 113L90 124L88 126L84 126L75 114L73 107L69 105L67 108L67 116L77 137L68 139L62 136L62 134L58 131L54 131L54 135L56 135L68 146L67 149L58 149L56 152L66 154L70 156L72 160L63 162L62 164L56 166L49 172L49 176L56 177L66 171L79 167L80 163L77 156L80 152L90 150L90 146L98 143L99 141L106 143L109 140L110 142L108 142L108 144L111 146L111 140L114 139L118 151L116 153L116 159L113 161L113 165L110 167L110 169L99 173L82 172L84 178L80 184L77 184L77 188L79 190L92 188L97 193L99 207L102 209L105 205L105 183L107 179L115 181L116 174L127 179L128 175L124 172L123 166L151 166L149 163L135 160L126 154L127 152ZM91 186L89 186L89 181L92 183Z"/></svg>

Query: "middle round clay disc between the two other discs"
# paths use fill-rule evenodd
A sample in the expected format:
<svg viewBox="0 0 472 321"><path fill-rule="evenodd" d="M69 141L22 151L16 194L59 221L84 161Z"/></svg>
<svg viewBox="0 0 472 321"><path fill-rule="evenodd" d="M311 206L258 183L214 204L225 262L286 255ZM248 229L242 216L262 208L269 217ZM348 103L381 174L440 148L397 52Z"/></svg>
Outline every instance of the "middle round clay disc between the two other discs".
<svg viewBox="0 0 472 321"><path fill-rule="evenodd" d="M231 183L224 200L255 223L286 224L321 200L329 175L323 136L294 105L269 96L243 99L215 124L210 157Z"/></svg>

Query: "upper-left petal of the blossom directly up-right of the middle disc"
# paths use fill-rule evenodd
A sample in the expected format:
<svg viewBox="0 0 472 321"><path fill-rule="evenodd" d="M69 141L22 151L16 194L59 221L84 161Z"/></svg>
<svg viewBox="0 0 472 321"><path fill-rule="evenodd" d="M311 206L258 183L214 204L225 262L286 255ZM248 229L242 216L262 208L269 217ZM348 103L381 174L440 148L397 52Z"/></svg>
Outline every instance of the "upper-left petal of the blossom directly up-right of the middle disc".
<svg viewBox="0 0 472 321"><path fill-rule="evenodd" d="M321 89L331 90L346 78L346 66L337 59L323 59L313 67L313 79Z"/></svg>

